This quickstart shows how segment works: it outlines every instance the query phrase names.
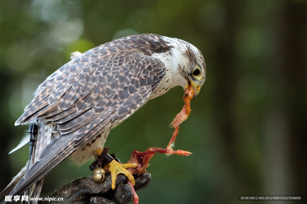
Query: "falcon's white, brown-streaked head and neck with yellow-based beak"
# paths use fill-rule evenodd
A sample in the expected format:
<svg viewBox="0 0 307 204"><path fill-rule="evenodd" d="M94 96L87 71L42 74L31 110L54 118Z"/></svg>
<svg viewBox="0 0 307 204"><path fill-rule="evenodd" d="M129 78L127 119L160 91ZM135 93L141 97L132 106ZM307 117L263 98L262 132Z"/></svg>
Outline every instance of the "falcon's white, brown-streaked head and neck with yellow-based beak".
<svg viewBox="0 0 307 204"><path fill-rule="evenodd" d="M166 67L161 87L169 90L181 86L186 90L191 84L195 96L198 95L206 77L206 65L200 50L181 39L160 37L161 39L151 39L148 43L156 47L152 56L160 59ZM157 92L160 91L162 90Z"/></svg>

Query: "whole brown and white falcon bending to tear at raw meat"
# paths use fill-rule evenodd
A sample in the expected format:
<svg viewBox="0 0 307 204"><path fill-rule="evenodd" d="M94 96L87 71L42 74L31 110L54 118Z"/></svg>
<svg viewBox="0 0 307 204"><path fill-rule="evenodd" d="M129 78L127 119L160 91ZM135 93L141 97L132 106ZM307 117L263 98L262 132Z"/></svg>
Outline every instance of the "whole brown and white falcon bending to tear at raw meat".
<svg viewBox="0 0 307 204"><path fill-rule="evenodd" d="M156 34L130 35L75 55L41 83L16 121L15 125L36 123L37 139L31 160L0 199L33 186L34 197L39 197L44 177L64 159L82 164L95 158L110 130L148 100L175 86L192 86L197 95L206 76L200 50ZM135 168L135 163L113 160L109 165L111 174L124 173L134 184L126 169Z"/></svg>

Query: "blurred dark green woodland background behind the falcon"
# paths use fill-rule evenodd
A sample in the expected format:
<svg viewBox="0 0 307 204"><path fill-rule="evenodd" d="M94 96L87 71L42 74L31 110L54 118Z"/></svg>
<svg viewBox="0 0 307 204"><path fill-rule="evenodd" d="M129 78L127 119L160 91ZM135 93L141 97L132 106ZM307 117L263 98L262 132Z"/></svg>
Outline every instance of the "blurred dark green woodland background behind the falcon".
<svg viewBox="0 0 307 204"><path fill-rule="evenodd" d="M37 86L75 50L156 33L198 47L207 77L175 146L193 154L155 155L140 203L306 195L306 11L302 0L0 1L0 190L28 160L28 145L8 152L28 128L14 122ZM111 131L106 147L122 162L133 150L165 147L183 93L175 87L148 102ZM76 168L65 161L45 178L42 195L90 176L89 164Z"/></svg>

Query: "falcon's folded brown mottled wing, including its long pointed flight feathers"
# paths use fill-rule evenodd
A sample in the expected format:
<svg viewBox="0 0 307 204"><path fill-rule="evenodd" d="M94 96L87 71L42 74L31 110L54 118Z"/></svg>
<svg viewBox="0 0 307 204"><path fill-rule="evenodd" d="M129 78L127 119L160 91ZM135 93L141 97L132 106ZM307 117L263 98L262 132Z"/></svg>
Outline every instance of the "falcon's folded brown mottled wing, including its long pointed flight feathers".
<svg viewBox="0 0 307 204"><path fill-rule="evenodd" d="M10 195L21 193L115 121L129 117L163 80L165 66L159 59L138 50L115 51L101 46L89 50L39 86L16 124L43 117L54 124L54 134Z"/></svg>

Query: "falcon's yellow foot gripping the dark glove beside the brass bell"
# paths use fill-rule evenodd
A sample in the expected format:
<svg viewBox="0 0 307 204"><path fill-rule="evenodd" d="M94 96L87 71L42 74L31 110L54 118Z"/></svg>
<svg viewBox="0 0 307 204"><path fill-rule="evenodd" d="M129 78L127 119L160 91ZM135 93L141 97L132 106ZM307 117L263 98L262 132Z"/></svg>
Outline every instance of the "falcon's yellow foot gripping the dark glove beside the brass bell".
<svg viewBox="0 0 307 204"><path fill-rule="evenodd" d="M111 172L111 180L112 180L112 189L115 190L115 182L117 179L117 175L120 173L125 174L125 176L127 176L128 180L131 181L131 183L134 185L135 181L134 181L134 177L132 176L132 174L130 173L130 171L128 171L128 168L136 168L138 166L137 163L128 163L128 164L120 164L119 162L115 161L115 159L113 159L109 164L108 164L108 171Z"/></svg>

